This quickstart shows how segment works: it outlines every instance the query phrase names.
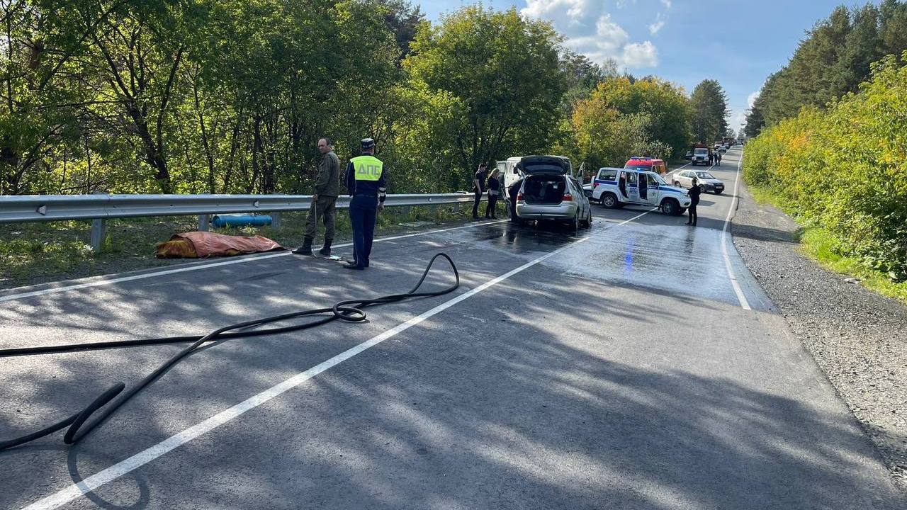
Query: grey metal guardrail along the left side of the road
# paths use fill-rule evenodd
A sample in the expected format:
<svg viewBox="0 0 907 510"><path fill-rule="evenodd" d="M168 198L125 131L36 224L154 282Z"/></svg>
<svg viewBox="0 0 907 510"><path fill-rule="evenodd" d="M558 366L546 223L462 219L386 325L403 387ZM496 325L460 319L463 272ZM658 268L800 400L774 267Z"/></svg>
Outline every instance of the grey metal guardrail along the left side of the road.
<svg viewBox="0 0 907 510"><path fill-rule="evenodd" d="M337 198L338 209L350 197ZM385 207L417 207L473 201L472 193L387 195ZM308 211L311 195L15 195L0 197L0 223L92 220L92 249L101 250L104 220L153 216L199 215L199 230L208 230L210 215L269 212L279 228L281 211Z"/></svg>

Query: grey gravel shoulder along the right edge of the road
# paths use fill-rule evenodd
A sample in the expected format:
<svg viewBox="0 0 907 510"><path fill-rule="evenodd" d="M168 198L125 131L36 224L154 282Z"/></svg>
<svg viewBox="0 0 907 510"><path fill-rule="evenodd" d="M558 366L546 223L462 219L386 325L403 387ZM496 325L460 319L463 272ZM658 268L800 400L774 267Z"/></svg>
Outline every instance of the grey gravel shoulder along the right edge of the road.
<svg viewBox="0 0 907 510"><path fill-rule="evenodd" d="M805 258L798 230L741 182L736 249L907 492L907 307Z"/></svg>

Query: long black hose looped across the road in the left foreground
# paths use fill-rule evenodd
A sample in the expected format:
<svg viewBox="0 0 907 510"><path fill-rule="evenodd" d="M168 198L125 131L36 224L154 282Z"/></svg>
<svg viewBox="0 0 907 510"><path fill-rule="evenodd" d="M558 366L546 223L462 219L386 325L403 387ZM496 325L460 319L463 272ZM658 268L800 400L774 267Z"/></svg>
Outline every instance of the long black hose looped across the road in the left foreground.
<svg viewBox="0 0 907 510"><path fill-rule="evenodd" d="M447 262L450 263L451 270L453 270L454 282L453 285L446 289L435 290L432 292L419 292L419 288L422 287L422 284L425 281L425 278L428 276L428 272L432 269L434 265L434 260L438 258L444 258ZM415 287L408 292L403 294L391 294L389 296L382 296L374 299L346 299L344 301L337 302L333 307L324 308L324 309L308 309L295 311L291 313L285 313L283 315L276 315L274 317L267 317L264 319L256 320L247 320L245 322L239 322L238 324L231 324L220 329L215 329L207 335L203 336L182 336L182 337L166 337L166 338L147 338L140 340L121 340L121 341L112 341L112 342L99 342L99 343L87 343L87 344L70 344L63 346L46 346L46 347L33 347L33 348L7 348L0 349L0 358L10 357L10 356L28 356L35 354L50 354L58 352L68 352L76 350L89 350L89 349L105 349L105 348L124 348L124 347L136 347L136 346L148 346L156 344L165 344L165 343L177 343L177 342L192 342L192 344L180 350L172 358L164 361L158 368L155 368L150 374L142 378L134 386L130 387L128 390L123 392L126 389L126 385L122 382L114 384L112 387L109 387L105 390L100 396L95 398L88 407L85 407L82 411L75 413L71 417L67 417L50 427L45 427L37 432L31 434L16 437L15 439L9 439L7 441L0 442L0 451L3 451L7 448L12 448L14 446L24 445L30 441L34 441L39 437L48 436L53 434L57 430L61 430L65 427L69 427L66 430L66 434L63 435L63 442L67 445L72 445L73 443L78 442L84 436L89 434L95 427L98 427L102 424L104 420L116 412L127 400L132 398L136 393L141 391L142 388L150 385L156 378L159 378L161 374L167 371L169 368L173 367L180 362L181 359L189 356L197 348L200 348L203 344L207 342L213 342L217 340L223 340L227 338L244 338L244 337L257 337L261 335L275 335L278 333L288 333L290 331L298 331L301 329L315 328L321 326L322 324L327 324L328 322L333 322L337 319L345 320L347 322L362 322L366 320L366 312L363 310L367 307L375 305L385 305L388 303L395 303L403 301L405 299L413 298L431 298L436 296L443 296L453 292L454 290L460 287L460 273L456 268L456 264L453 263L451 259L445 253L438 253L432 257L432 260L429 260L428 265L425 267L425 270L422 273L422 278L415 284ZM251 330L242 330L233 331L235 329L248 329L248 328L257 328L265 324L270 324L273 322L279 322L282 320L288 319L297 319L300 317L308 316L317 316L317 315L326 315L322 319L317 319L311 322L306 322L304 324L294 324L291 326L284 326L280 328L271 328L271 329L251 329ZM121 395L121 392L122 395ZM117 397L119 395L119 397ZM115 398L115 400L114 400ZM108 405L109 404L109 405ZM88 424L85 424L85 421L89 417L92 417L95 411L99 411L98 415L93 418Z"/></svg>

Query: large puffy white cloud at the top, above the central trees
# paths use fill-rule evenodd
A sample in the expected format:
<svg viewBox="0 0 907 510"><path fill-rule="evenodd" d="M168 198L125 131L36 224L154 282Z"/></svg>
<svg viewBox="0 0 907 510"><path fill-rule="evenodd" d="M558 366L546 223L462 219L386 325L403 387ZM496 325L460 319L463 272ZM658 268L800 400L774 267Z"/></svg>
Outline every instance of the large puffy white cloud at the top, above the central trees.
<svg viewBox="0 0 907 510"><path fill-rule="evenodd" d="M670 0L660 0L663 5ZM623 0L619 6L635 3ZM605 11L600 0L527 0L522 15L551 21L568 38L572 50L585 54L594 62L612 58L627 68L658 65L658 49L651 41L631 41L629 34ZM594 22L594 23L593 23ZM660 25L659 25L660 24ZM658 26L656 26L658 25ZM655 34L664 25L661 15L649 26Z"/></svg>

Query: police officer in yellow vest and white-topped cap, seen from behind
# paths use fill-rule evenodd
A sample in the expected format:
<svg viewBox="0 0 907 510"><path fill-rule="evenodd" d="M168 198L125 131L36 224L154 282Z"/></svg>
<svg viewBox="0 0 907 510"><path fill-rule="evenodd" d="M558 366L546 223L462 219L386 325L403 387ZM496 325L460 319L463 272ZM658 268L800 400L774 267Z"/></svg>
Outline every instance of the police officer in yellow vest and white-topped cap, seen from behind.
<svg viewBox="0 0 907 510"><path fill-rule="evenodd" d="M349 202L349 221L353 224L353 262L347 270L364 270L372 254L375 219L385 208L387 184L385 163L375 158L375 141L362 141L362 155L346 165L346 190L353 197Z"/></svg>

